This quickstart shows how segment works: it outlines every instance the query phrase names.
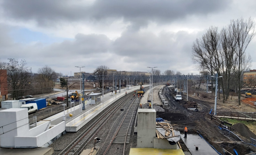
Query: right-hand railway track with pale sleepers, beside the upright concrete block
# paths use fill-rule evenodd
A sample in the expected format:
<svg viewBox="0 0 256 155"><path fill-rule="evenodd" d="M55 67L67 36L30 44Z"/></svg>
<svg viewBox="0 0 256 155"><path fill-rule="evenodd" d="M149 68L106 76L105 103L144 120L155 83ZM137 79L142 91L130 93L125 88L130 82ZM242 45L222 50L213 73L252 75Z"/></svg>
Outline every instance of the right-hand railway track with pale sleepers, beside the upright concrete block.
<svg viewBox="0 0 256 155"><path fill-rule="evenodd" d="M135 115L138 109L140 100L133 100L131 105L129 106L126 114L122 118L122 121L119 123L118 128L115 131L115 134L112 137L112 140L110 141L110 144L106 148L103 155L106 155L108 152L108 149L110 148L111 144L124 144L123 147L123 155L125 153L125 144L129 143L131 130L132 130L132 124L135 119Z"/></svg>

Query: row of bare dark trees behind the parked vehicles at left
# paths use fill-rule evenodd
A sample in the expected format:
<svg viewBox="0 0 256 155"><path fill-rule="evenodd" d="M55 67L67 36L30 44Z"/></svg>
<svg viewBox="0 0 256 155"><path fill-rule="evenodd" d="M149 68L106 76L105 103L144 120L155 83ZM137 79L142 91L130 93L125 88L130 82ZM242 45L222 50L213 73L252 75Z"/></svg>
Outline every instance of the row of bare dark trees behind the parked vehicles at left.
<svg viewBox="0 0 256 155"><path fill-rule="evenodd" d="M16 59L8 60L8 63L0 62L0 69L7 70L8 92L11 93L11 97L52 91L53 81L57 77L53 69L45 66L33 74L25 60L20 62Z"/></svg>

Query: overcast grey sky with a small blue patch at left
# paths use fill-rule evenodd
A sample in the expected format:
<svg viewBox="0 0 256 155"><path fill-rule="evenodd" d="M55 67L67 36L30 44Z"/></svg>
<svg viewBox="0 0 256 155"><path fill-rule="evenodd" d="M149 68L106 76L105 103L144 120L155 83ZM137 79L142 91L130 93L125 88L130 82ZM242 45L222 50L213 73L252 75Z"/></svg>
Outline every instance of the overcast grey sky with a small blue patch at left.
<svg viewBox="0 0 256 155"><path fill-rule="evenodd" d="M0 61L70 76L105 65L198 74L192 43L210 26L256 20L254 0L0 0ZM246 52L256 69L256 38Z"/></svg>

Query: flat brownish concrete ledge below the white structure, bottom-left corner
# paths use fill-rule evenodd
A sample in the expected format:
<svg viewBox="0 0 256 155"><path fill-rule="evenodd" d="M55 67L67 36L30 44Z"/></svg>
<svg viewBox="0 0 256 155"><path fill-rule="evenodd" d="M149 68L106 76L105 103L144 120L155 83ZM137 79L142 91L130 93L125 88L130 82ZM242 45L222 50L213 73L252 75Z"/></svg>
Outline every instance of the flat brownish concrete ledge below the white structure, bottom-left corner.
<svg viewBox="0 0 256 155"><path fill-rule="evenodd" d="M52 155L52 147L39 147L39 148L24 148L24 149L10 149L0 148L1 155Z"/></svg>

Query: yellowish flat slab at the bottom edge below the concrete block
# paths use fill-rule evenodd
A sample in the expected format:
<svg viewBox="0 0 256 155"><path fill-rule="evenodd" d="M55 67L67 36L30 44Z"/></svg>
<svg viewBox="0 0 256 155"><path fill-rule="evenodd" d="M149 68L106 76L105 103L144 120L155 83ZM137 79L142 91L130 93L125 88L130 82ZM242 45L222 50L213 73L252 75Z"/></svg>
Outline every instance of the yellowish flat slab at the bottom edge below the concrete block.
<svg viewBox="0 0 256 155"><path fill-rule="evenodd" d="M129 155L185 155L182 149L130 148Z"/></svg>

